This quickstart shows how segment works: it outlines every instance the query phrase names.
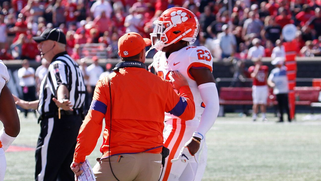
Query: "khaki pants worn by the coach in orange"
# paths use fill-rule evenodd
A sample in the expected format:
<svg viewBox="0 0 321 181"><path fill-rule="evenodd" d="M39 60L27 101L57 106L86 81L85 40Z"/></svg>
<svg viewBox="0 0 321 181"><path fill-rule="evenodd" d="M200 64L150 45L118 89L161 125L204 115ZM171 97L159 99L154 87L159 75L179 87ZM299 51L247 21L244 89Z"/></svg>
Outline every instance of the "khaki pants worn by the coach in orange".
<svg viewBox="0 0 321 181"><path fill-rule="evenodd" d="M117 181L113 176L109 159L100 160L93 167L97 181ZM161 171L161 155L153 153L123 154L110 157L111 168L120 181L158 181Z"/></svg>

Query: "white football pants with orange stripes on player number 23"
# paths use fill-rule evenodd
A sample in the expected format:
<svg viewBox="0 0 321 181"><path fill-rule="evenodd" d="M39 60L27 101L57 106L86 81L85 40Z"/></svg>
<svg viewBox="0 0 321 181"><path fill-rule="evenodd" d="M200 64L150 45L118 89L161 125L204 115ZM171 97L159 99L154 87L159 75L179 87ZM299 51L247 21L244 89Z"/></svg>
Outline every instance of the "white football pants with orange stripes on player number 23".
<svg viewBox="0 0 321 181"><path fill-rule="evenodd" d="M199 121L181 119L170 119L165 122L164 146L169 149L169 156L166 158L162 181L201 181L207 160L207 146L205 138L201 141L200 149L195 154L197 162L192 160L187 163L177 161L171 163L170 160L177 158L181 148L192 137L197 129Z"/></svg>

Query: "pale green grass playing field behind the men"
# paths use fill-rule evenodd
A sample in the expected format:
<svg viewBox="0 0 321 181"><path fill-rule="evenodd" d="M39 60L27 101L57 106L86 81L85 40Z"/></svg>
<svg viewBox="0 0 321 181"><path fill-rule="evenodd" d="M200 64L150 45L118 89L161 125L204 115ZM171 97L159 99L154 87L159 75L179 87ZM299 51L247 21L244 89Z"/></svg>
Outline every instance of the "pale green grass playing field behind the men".
<svg viewBox="0 0 321 181"><path fill-rule="evenodd" d="M21 132L15 146L35 148L39 125L33 114L20 116ZM226 114L207 133L208 161L204 181L321 181L321 120L275 123L252 122L250 117ZM2 125L0 125L2 128ZM98 141L88 157L100 156ZM34 151L7 152L5 181L34 180Z"/></svg>

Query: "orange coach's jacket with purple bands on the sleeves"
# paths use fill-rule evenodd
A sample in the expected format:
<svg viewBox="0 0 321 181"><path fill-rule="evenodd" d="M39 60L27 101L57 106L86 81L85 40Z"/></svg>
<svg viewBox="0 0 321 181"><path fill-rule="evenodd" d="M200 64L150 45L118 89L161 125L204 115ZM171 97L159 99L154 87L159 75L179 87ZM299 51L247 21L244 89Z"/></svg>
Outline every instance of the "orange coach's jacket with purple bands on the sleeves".
<svg viewBox="0 0 321 181"><path fill-rule="evenodd" d="M112 96L110 132L110 95L108 78L97 82L90 110L77 138L74 162L82 163L93 151L102 130L101 158L128 153L160 153L163 146L164 112L183 120L193 119L195 104L188 86L179 96L168 81L143 68L127 67L109 74ZM109 147L109 134L110 153Z"/></svg>

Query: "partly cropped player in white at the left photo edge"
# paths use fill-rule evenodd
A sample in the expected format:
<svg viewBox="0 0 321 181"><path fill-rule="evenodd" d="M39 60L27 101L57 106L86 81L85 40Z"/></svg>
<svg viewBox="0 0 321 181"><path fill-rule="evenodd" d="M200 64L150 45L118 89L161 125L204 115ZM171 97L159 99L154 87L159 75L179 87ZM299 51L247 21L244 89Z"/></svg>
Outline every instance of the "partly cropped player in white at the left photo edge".
<svg viewBox="0 0 321 181"><path fill-rule="evenodd" d="M0 181L4 180L6 160L4 151L9 148L20 131L20 122L12 94L5 83L9 81L7 67L0 60Z"/></svg>

